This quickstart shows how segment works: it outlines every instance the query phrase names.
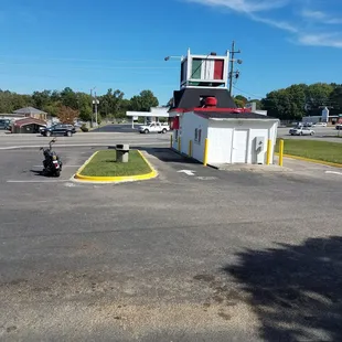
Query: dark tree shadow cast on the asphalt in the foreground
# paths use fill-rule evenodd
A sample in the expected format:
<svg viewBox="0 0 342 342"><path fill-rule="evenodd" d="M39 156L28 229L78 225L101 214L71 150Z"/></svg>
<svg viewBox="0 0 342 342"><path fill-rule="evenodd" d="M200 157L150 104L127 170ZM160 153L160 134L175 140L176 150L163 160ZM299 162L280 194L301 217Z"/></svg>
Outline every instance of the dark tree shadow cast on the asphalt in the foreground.
<svg viewBox="0 0 342 342"><path fill-rule="evenodd" d="M224 270L248 295L265 341L342 341L342 237L239 253Z"/></svg>

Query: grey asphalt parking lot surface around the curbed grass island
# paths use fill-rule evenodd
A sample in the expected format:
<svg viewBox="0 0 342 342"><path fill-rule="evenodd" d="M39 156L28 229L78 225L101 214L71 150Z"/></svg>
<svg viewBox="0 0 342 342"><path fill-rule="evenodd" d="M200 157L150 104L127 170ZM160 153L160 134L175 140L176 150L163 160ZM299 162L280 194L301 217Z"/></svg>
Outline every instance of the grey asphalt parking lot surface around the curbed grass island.
<svg viewBox="0 0 342 342"><path fill-rule="evenodd" d="M141 149L159 177L118 185L70 180L92 147L58 180L0 151L1 340L341 340L342 175Z"/></svg>

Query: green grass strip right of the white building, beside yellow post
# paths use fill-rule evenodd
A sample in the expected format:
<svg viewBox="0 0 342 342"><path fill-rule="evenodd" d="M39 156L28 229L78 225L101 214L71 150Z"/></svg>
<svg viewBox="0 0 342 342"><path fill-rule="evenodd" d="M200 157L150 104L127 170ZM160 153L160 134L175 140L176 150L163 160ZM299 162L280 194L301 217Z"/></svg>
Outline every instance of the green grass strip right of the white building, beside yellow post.
<svg viewBox="0 0 342 342"><path fill-rule="evenodd" d="M279 139L276 152L279 152ZM342 164L342 143L340 142L286 139L284 153Z"/></svg>

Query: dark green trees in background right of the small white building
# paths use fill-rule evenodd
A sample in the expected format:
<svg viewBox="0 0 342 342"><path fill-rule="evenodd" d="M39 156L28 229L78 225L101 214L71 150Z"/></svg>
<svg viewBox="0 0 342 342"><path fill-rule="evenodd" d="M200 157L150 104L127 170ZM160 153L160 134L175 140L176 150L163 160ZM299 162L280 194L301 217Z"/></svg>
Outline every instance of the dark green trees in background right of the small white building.
<svg viewBox="0 0 342 342"><path fill-rule="evenodd" d="M280 120L301 120L303 116L320 115L325 106L332 115L338 115L342 114L342 84L293 84L268 93L261 100L247 99L242 95L234 100L237 107L256 101L257 109L267 110L268 116Z"/></svg>

